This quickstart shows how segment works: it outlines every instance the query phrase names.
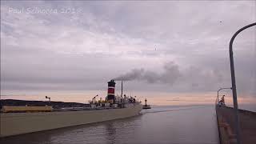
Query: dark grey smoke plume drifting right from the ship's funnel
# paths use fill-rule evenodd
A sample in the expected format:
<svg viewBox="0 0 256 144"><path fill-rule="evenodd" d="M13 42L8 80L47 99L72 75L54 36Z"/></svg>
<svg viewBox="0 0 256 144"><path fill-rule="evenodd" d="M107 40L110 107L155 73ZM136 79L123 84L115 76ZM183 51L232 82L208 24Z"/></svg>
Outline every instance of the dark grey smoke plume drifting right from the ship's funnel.
<svg viewBox="0 0 256 144"><path fill-rule="evenodd" d="M164 70L160 74L157 73L158 70L150 71L150 70L144 70L144 69L134 69L126 74L122 74L117 78L114 78L114 80L115 81L138 80L138 81L146 81L149 83L160 82L160 83L174 84L174 82L182 75L178 65L176 65L174 62L166 63L166 65L163 68Z"/></svg>

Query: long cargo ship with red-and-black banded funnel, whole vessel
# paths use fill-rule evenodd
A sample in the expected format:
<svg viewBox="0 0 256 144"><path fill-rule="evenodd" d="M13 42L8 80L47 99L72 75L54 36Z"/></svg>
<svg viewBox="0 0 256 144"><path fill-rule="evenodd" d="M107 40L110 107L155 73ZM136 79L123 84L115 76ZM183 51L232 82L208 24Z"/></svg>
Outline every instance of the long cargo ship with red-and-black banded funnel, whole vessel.
<svg viewBox="0 0 256 144"><path fill-rule="evenodd" d="M54 106L2 106L0 137L138 115L142 110L141 102L131 96L115 96L115 84L114 80L108 82L105 100L101 99L97 102L95 98L98 95L96 95L86 106L62 108L54 108Z"/></svg>

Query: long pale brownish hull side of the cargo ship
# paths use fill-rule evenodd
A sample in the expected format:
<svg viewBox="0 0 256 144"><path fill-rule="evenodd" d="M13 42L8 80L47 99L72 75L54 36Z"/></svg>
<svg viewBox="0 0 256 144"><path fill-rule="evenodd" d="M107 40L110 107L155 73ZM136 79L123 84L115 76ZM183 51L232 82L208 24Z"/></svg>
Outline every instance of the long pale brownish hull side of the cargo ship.
<svg viewBox="0 0 256 144"><path fill-rule="evenodd" d="M142 105L136 104L122 109L1 113L0 137L129 118L138 115L141 110Z"/></svg>

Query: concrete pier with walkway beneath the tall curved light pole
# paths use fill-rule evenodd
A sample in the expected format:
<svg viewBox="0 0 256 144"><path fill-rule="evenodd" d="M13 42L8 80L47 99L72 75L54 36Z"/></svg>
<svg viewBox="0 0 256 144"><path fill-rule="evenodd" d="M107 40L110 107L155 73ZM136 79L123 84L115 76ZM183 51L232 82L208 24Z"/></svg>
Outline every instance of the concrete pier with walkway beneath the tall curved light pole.
<svg viewBox="0 0 256 144"><path fill-rule="evenodd" d="M236 143L234 131L234 109L227 106L216 106L218 131L221 144ZM239 110L240 134L242 144L256 143L256 113L248 110Z"/></svg>

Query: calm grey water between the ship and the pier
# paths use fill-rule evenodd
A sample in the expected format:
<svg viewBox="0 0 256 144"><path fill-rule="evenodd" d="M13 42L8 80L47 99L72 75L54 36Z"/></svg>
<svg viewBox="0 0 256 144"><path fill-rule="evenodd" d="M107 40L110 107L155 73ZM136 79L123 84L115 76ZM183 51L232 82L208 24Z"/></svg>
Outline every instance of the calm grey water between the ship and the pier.
<svg viewBox="0 0 256 144"><path fill-rule="evenodd" d="M214 106L153 106L134 118L2 138L1 143L218 143Z"/></svg>

